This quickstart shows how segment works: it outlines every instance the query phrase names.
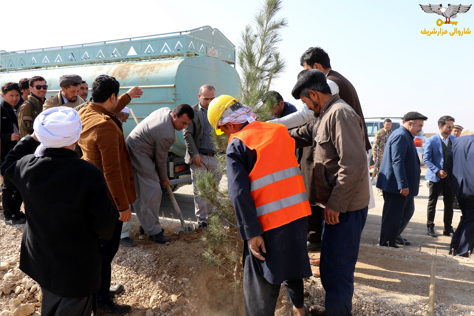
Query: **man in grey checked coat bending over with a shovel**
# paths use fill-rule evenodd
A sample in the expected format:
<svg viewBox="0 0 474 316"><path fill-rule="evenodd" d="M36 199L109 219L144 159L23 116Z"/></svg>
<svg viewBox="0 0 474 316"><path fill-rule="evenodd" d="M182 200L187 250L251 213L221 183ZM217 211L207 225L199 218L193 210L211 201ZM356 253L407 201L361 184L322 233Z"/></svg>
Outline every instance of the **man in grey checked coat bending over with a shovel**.
<svg viewBox="0 0 474 316"><path fill-rule="evenodd" d="M182 103L173 111L171 108L160 108L141 121L126 140L137 192L133 208L146 235L158 244L169 241L159 221L160 184L163 187L170 184L166 158L176 140L174 131L186 128L193 118L194 111L189 104Z"/></svg>

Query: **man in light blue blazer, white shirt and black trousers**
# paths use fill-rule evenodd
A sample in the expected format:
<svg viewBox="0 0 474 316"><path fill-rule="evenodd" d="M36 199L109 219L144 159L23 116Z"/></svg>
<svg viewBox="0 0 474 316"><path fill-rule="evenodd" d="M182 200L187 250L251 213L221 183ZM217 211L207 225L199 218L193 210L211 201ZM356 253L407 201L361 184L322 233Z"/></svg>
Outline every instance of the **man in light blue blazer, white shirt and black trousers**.
<svg viewBox="0 0 474 316"><path fill-rule="evenodd" d="M438 237L435 233L436 203L439 193L443 192L444 202L444 230L443 235L453 236L453 190L449 185L449 174L446 172L447 155L456 136L451 135L454 127L454 118L443 116L438 119L439 133L428 138L425 144L423 162L428 167L425 179L428 180L428 226L427 233L431 237Z"/></svg>

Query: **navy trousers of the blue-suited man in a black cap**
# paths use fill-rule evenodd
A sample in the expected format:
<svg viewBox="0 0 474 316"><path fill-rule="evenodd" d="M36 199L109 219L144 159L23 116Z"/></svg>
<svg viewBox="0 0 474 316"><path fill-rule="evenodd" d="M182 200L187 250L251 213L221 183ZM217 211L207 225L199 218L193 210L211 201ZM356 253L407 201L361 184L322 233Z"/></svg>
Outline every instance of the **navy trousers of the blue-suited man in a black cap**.
<svg viewBox="0 0 474 316"><path fill-rule="evenodd" d="M383 191L382 227L380 228L380 245L394 245L397 237L410 223L415 213L415 199L404 197L400 193Z"/></svg>

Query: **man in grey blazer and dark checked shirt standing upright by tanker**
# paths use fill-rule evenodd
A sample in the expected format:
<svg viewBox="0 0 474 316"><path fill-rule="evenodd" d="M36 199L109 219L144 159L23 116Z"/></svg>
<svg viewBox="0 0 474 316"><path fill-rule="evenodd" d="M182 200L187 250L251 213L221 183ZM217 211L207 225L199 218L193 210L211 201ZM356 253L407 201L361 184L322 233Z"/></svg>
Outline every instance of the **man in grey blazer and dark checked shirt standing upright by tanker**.
<svg viewBox="0 0 474 316"><path fill-rule="evenodd" d="M195 111L191 124L183 131L182 136L186 143L186 156L184 161L191 165L191 179L194 191L194 211L199 227L207 227L208 216L213 207L206 203L206 199L196 195L196 170L205 172L210 170L217 173L220 181L222 174L218 170L216 158L216 147L212 139L212 126L210 126L207 110L209 103L216 96L216 90L210 84L205 84L199 88L199 102L191 108Z"/></svg>

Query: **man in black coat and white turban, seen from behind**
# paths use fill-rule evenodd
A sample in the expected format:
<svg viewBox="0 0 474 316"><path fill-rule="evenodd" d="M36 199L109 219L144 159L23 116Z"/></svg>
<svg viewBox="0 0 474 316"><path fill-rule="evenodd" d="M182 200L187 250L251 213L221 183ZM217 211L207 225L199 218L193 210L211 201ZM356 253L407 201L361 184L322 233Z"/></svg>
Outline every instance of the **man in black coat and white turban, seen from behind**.
<svg viewBox="0 0 474 316"><path fill-rule="evenodd" d="M20 269L41 285L41 315L90 316L100 287L99 238L111 238L118 211L100 169L73 151L82 129L75 110L47 109L34 128L1 166L27 209Z"/></svg>

